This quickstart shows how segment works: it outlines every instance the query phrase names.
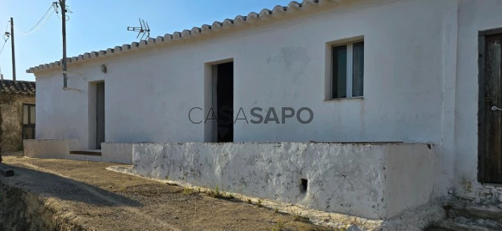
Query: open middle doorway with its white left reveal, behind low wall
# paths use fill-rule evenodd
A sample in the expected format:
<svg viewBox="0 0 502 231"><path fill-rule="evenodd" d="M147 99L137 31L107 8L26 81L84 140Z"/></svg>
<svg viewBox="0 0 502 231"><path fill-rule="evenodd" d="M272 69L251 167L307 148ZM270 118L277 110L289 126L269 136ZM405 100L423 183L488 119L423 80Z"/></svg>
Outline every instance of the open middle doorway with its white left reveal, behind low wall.
<svg viewBox="0 0 502 231"><path fill-rule="evenodd" d="M211 142L234 141L234 62L210 65L211 78L206 92L209 101L206 115L206 128Z"/></svg>

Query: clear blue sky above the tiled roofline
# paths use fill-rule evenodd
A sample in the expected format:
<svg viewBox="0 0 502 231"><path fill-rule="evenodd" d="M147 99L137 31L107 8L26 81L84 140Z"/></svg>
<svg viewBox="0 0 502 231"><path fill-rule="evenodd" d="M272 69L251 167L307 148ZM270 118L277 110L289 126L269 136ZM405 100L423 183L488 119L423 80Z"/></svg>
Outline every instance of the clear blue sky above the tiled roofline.
<svg viewBox="0 0 502 231"><path fill-rule="evenodd" d="M290 0L66 0L73 13L68 14L66 42L68 56L99 51L136 41L137 33L127 26L139 26L138 18L149 22L151 37L193 26L212 24L215 20L234 19L236 15L259 13L263 8L285 6ZM8 20L14 18L16 74L18 80L31 80L27 68L59 61L62 57L61 20L53 13L38 31L29 31L40 20L50 0L0 0L0 47ZM45 20L45 19L44 19ZM10 30L10 29L9 29ZM12 79L10 40L0 54L0 68L5 79Z"/></svg>

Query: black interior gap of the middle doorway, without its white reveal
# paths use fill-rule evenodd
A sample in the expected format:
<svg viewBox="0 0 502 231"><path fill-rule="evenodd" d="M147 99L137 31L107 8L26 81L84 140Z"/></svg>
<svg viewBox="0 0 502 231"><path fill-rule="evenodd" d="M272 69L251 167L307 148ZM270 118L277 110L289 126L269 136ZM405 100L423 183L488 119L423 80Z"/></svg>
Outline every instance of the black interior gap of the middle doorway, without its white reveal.
<svg viewBox="0 0 502 231"><path fill-rule="evenodd" d="M234 63L216 65L218 143L234 142Z"/></svg>

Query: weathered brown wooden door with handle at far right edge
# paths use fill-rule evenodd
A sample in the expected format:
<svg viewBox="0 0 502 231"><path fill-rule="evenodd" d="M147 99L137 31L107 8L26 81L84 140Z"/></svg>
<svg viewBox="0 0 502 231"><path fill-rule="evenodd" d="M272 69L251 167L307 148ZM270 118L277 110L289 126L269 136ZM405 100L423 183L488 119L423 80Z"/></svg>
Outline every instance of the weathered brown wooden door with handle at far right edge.
<svg viewBox="0 0 502 231"><path fill-rule="evenodd" d="M478 180L502 183L502 34L480 34Z"/></svg>

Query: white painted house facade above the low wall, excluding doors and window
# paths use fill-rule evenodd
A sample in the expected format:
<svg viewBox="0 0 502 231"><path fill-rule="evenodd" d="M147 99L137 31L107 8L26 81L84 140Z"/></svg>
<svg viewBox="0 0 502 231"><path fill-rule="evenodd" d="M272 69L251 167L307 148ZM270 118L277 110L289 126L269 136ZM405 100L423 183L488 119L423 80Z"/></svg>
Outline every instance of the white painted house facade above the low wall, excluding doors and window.
<svg viewBox="0 0 502 231"><path fill-rule="evenodd" d="M81 150L95 145L90 86L105 81L106 143L208 141L207 126L192 124L188 113L210 105L210 65L231 60L234 109L248 117L254 106L307 106L314 113L306 125L238 120L234 141L430 143L433 195L480 198L489 189L476 180L478 31L502 27L501 11L498 0L328 3L242 29L70 63L68 87L78 91L61 90L60 67L49 65L34 71L36 138L75 138ZM364 97L326 100L330 45L350 38L365 42ZM131 158L125 153L119 162ZM500 191L493 191L497 198Z"/></svg>

